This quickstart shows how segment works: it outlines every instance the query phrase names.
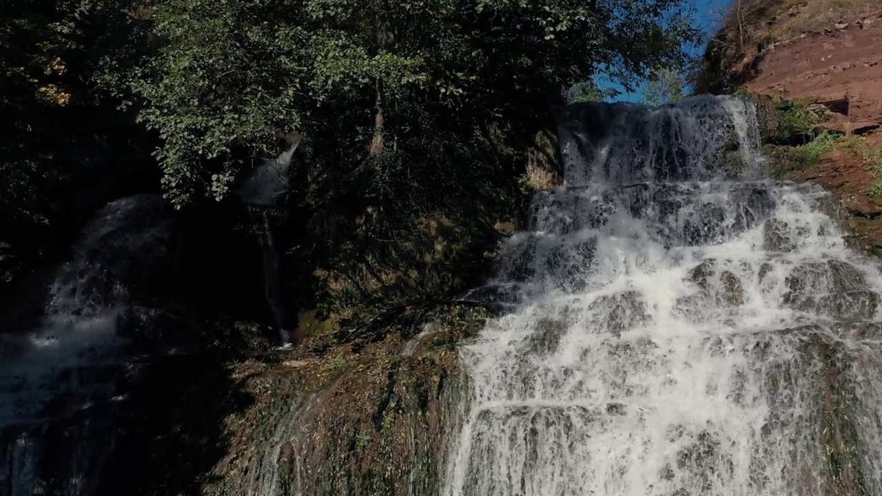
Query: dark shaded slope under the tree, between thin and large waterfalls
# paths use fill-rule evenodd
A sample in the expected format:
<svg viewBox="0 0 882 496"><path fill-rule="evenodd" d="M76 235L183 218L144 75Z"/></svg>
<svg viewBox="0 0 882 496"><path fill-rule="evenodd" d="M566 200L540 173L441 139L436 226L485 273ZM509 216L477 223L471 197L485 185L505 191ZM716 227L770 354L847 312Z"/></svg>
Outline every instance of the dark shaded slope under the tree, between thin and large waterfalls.
<svg viewBox="0 0 882 496"><path fill-rule="evenodd" d="M303 207L279 229L284 279L297 285L292 296L302 296L289 297L288 308L333 316L338 342L402 330L410 319L403 309L443 306L480 285L494 270L498 243L522 217L527 150L512 144L537 130L475 124L464 134L463 122L427 122L405 120L412 136L363 169L331 174L324 161L333 157L310 156L303 174L311 181L292 181L307 186L294 192ZM402 324L391 325L392 315Z"/></svg>

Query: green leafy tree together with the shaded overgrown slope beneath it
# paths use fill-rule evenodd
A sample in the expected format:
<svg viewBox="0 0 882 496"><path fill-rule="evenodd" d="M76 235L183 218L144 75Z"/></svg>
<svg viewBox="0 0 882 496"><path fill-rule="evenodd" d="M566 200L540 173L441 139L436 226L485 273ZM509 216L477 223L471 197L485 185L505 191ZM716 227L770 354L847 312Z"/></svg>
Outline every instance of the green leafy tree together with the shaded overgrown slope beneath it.
<svg viewBox="0 0 882 496"><path fill-rule="evenodd" d="M177 206L224 198L305 137L280 243L313 299L292 305L355 330L486 275L564 89L599 67L632 89L680 64L698 33L679 5L167 0L129 87Z"/></svg>

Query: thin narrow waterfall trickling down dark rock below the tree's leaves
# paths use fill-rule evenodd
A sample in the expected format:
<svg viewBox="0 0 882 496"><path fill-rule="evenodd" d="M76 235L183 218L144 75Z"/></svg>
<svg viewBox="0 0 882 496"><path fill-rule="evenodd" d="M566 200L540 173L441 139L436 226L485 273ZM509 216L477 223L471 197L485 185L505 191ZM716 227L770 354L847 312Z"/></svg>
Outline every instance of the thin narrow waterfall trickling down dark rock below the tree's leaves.
<svg viewBox="0 0 882 496"><path fill-rule="evenodd" d="M270 228L269 208L288 191L288 170L298 145L299 143L295 144L275 160L262 162L238 190L239 197L250 206L251 222L258 236L263 261L266 304L273 312L276 332L279 333L282 347L288 347L291 343L290 333L285 327L279 279L279 253L276 252L273 230Z"/></svg>

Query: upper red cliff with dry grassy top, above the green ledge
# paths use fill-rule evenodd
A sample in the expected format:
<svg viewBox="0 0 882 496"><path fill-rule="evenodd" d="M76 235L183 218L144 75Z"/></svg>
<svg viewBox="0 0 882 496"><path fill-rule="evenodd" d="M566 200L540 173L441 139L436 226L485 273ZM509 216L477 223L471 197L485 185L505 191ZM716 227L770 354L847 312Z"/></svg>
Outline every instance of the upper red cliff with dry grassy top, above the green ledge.
<svg viewBox="0 0 882 496"><path fill-rule="evenodd" d="M842 128L882 124L877 0L734 0L704 63L699 92L786 94L831 102Z"/></svg>

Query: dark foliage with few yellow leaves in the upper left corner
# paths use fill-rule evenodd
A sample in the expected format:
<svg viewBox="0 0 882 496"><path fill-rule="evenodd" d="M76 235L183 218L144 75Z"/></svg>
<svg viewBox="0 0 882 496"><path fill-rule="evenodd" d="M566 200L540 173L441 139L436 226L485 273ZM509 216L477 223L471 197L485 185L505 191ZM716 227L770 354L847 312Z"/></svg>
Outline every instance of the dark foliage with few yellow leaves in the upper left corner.
<svg viewBox="0 0 882 496"><path fill-rule="evenodd" d="M101 64L131 53L134 19L119 0L13 0L0 5L0 240L36 252L65 212L71 157L93 161L124 128L100 101ZM122 140L121 140L122 141ZM124 145L120 144L120 149Z"/></svg>

